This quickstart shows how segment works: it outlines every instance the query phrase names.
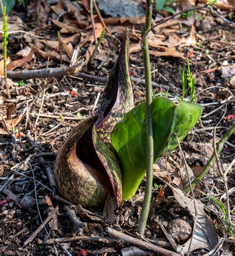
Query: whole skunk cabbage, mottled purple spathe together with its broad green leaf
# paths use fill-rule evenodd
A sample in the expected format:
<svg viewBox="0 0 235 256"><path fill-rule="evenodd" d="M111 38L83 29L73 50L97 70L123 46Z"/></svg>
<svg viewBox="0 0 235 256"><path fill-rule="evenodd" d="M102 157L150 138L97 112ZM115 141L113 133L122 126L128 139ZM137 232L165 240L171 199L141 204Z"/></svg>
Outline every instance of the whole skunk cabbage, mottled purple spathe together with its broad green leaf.
<svg viewBox="0 0 235 256"><path fill-rule="evenodd" d="M129 32L95 116L73 128L58 151L54 176L59 193L87 207L103 208L108 196L117 207L134 196L146 168L146 124L142 103L133 108L128 75ZM177 146L199 119L202 107L153 99L154 158Z"/></svg>

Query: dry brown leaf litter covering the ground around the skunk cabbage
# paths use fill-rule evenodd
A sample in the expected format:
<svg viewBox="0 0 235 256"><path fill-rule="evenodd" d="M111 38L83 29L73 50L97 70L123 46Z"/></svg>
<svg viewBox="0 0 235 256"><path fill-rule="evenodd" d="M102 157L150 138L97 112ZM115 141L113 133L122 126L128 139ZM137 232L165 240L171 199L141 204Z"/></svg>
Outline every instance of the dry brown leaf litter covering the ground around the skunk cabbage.
<svg viewBox="0 0 235 256"><path fill-rule="evenodd" d="M61 41L69 49L67 51L64 49L65 47L62 49L63 63L68 65L70 58L67 52L72 53L75 47L80 46L79 56L86 56L87 74L106 78L117 59L122 32L125 27L129 27L131 28L131 47L135 46L132 52L130 50L129 72L132 72L136 78L142 77L143 61L139 42L143 19L136 16L114 18L102 13L103 20L112 32L112 35L106 33L105 38L99 45L98 51L92 54L95 43L88 11L90 5L89 1L83 0L81 2L83 2L83 5L74 5L75 2L59 0L57 5L49 6L47 2L41 4L40 1L36 1L34 3L36 4L35 8L27 5L28 12L23 10L20 15L17 15L19 9L13 10L9 16L9 31L25 30L34 34L34 26L39 29L40 26L44 26L45 29L41 30L39 34L43 38L37 38L32 35L26 36L23 33L10 34L9 40L11 41L7 47L8 56L10 57L8 69L12 69L10 65L17 71L59 66L59 42L57 39L57 31L59 30ZM222 10L222 15L227 15L229 10L228 4L229 1L227 5L224 3L224 6L221 7L222 9L227 8ZM59 16L61 13L62 15ZM199 19L198 14L204 15L205 19L210 20L207 28L203 27L204 20ZM153 81L160 85L170 85L169 97L174 98L175 95L181 95L179 64L183 66L185 64L184 60L188 57L195 74L195 84L198 92L214 85L225 86L233 91L233 66L232 58L230 57L233 53L233 46L225 44L233 44L234 41L230 27L218 23L217 18L209 13L197 13L196 24L194 25L195 19L193 20L191 17L188 19L179 18L182 25L180 25L178 19L163 23L161 27L157 28L158 30L155 29L149 35L152 70L154 71L152 73ZM99 38L103 31L103 25L96 14L94 19L96 36ZM34 22L34 24L26 25L29 20ZM157 22L157 19L154 22ZM211 25L213 22L216 24L214 27ZM208 39L208 41L202 40L200 36ZM22 42L20 40L23 40L23 45L19 43ZM1 47L0 50L2 50ZM22 53L25 47L28 47L27 52L25 51L26 55ZM19 56L16 56L17 52L20 53ZM36 58L34 58L32 53L35 54ZM2 59L0 61L2 63ZM15 61L16 63L14 63ZM215 67L222 68L212 70L214 68L211 66L212 64ZM203 73L205 71L206 73ZM83 72L85 72L85 69ZM19 81L13 82L19 83ZM0 221L2 223L0 227L0 252L54 255L55 248L44 242L47 234L44 230L37 234L36 239L27 245L26 248L23 248L23 243L34 234L42 223L40 215L44 221L48 217L49 211L55 209L56 206L59 206L59 215L54 215L49 222L49 226L46 226L48 232L51 230L50 238L74 237L77 235L73 222L66 217L67 211L63 208L64 204L70 204L69 202L62 201L61 198L55 197L51 192L55 189L55 186L49 183L46 169L53 168L59 147L65 141L70 129L77 125L79 118L92 115L92 109L98 95L98 91L95 88L102 88L101 85L103 83L91 79L82 80L79 77L31 79L24 81L21 87L14 87L13 82L11 86L11 92L14 95L12 100L8 101L6 99L4 86L1 86L0 96L0 166L3 170L1 171L0 169ZM143 100L143 85L132 83L132 86L135 103ZM23 88L24 90L22 90ZM28 88L27 92L25 88ZM43 88L45 88L45 100L42 104ZM75 97L70 93L74 91L76 92ZM154 87L154 92L155 94L160 94L159 88ZM212 88L210 91L202 92L198 96L198 102L205 105L204 113L210 113L215 106L218 107L223 104L227 97L228 94L224 90ZM12 110L11 117L8 119L6 110L9 104L15 104L16 107ZM186 161L193 172L194 170L201 171L212 154L212 137L208 135L212 133L212 130L203 129L215 126L225 111L226 115L223 119L223 125L221 124L222 128L218 128L220 133L224 133L233 121L233 118L231 118L234 114L233 106L234 102L230 100L224 108L219 109L206 118L202 118L196 129L182 143L183 151L186 152ZM77 115L78 113L80 116ZM39 116L39 119L35 128L34 124L37 116ZM59 116L59 118L55 119L53 116ZM65 117L66 119L64 119ZM77 120L73 118L77 118ZM38 139L34 142L35 129ZM23 148L20 147L17 135L19 130L20 134L22 134L20 139ZM231 145L234 144L233 139L230 139L229 142ZM232 160L233 148L226 145L221 153L221 163L225 170ZM183 187L180 169L184 171L184 167L183 165L180 166L180 161L178 150L173 152L171 157L168 158L168 172L171 180L167 173L166 176L164 174L167 171L164 162L161 165L156 163L154 167L156 168L154 170L156 174L156 178L154 178L156 187L154 186L153 190L157 204L153 204L153 214L149 219L146 231L146 238L151 241L160 240L165 241L165 244L169 243L166 240L165 233L161 228L158 228L159 224L156 214L159 211L163 215L161 221L163 225L166 225L166 231L169 234L172 234L169 227L176 225L171 224L169 226L169 223L173 220L181 219L189 223L191 227L193 226L195 209L193 208L192 199L174 187L174 191L179 194L181 207L176 206L175 209L171 209L171 212L168 212L168 210L165 210L165 204L172 197L171 190L169 188L160 188L162 192L158 193L158 186L164 187L164 180L167 182L171 181L180 188ZM196 175L195 172L193 175ZM229 171L228 176L229 188L232 188L233 172ZM142 181L135 198L126 202L117 210L116 218L113 220L113 227L115 229L126 234L132 234L132 236L135 236L137 230L140 207L143 200L144 182L145 180ZM221 195L224 194L224 185L216 166L206 175L200 184L200 189L217 199L220 199ZM157 197L158 194L159 196ZM204 205L202 202L208 204L212 209L213 207L217 209L215 203L202 196L199 196L196 200L198 200L198 215L201 219L200 217L197 219L191 250L195 249L195 252L208 252L203 250L205 248L212 249L218 242L218 235L223 237L226 233L220 228L222 224L214 213L207 212L206 215L203 209ZM221 200L226 204L225 197ZM27 211L24 207L20 207L22 204L27 208ZM182 210L185 204L187 211ZM72 206L69 207L72 209ZM88 224L83 229L82 235L89 236L90 241L83 241L81 243L78 240L76 242L56 244L59 254L64 254L66 252L64 251L65 249L71 254L81 252L91 255L98 252L103 254L106 252L120 254L121 250L126 248L124 244L118 242L112 242L113 244L111 243L109 247L107 247L105 241L103 241L104 243L93 242L92 237L94 236L105 236L107 239L110 239L105 233L105 227L109 223L104 220L102 213L95 209L76 207L79 207L79 205L75 206L77 217L82 222ZM219 210L217 209L216 212L218 213ZM112 214L111 212L111 217ZM214 225L217 234L211 223ZM204 231L207 231L206 235L202 231L202 227L204 227ZM201 242L195 243L198 238ZM179 242L176 241L176 243ZM184 246L177 245L177 250L181 253L187 253L189 243L190 239ZM231 245L230 242L224 242L221 250L228 250L229 245ZM199 250L199 248L204 249ZM171 250L174 249L171 248Z"/></svg>

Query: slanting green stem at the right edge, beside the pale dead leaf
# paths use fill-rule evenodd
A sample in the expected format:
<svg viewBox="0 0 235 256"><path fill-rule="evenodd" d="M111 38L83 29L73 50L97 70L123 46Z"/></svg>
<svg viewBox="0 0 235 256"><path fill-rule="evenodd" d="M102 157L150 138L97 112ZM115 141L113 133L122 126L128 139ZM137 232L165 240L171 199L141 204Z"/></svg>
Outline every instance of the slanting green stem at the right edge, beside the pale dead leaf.
<svg viewBox="0 0 235 256"><path fill-rule="evenodd" d="M227 131L227 133L220 139L220 141L217 144L216 147L216 152L217 154L220 154L221 150L224 147L225 142L228 140L228 138L235 132L235 123L233 124L233 126ZM213 153L212 156L210 157L210 159L208 160L207 164L205 165L205 167L203 168L203 170L201 171L201 173L193 179L193 181L191 182L192 187L195 187L196 184L198 182L200 182L204 176L206 175L206 173L210 170L210 168L212 167L212 165L215 163L216 160L216 154ZM183 190L183 192L188 193L190 190L190 186L186 186Z"/></svg>

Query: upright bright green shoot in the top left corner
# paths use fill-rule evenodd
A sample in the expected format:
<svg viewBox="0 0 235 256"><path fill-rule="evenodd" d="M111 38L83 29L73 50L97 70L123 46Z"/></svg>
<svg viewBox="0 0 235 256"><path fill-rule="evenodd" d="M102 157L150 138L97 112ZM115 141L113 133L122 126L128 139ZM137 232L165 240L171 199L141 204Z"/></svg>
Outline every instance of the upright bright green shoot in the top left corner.
<svg viewBox="0 0 235 256"><path fill-rule="evenodd" d="M3 44L3 58L4 58L3 68L4 68L4 80L5 80L5 86L6 86L6 94L7 94L8 99L11 99L10 91L9 91L9 86L8 86L8 83L7 83L7 73L6 73L7 44L8 44L8 41L7 41L7 37L8 37L7 30L8 30L8 27L7 27L7 20L6 20L6 6L4 6L4 9L3 9L3 24L2 24L2 31L3 31L3 34L2 34L3 42L2 42L2 44Z"/></svg>

